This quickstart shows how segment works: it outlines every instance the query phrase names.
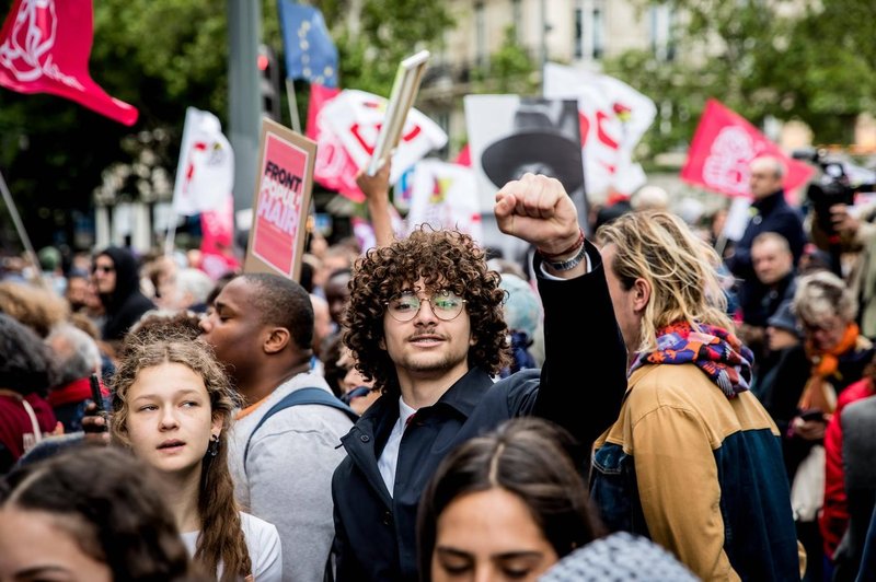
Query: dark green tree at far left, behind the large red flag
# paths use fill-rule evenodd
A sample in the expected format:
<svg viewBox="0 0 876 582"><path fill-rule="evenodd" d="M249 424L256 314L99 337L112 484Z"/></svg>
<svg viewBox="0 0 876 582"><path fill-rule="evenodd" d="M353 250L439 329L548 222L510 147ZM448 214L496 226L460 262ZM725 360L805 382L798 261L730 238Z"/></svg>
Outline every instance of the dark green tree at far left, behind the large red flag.
<svg viewBox="0 0 876 582"><path fill-rule="evenodd" d="M0 0L5 15L12 0ZM140 110L132 128L50 95L0 90L0 171L34 244L70 242L73 217L88 216L102 173L136 163L155 130L172 146L157 150L175 171L185 107L227 109L226 19L209 0L101 0L94 3L90 69L111 95ZM124 193L136 198L136 189ZM7 230L9 232L9 230ZM18 246L7 235L8 246Z"/></svg>

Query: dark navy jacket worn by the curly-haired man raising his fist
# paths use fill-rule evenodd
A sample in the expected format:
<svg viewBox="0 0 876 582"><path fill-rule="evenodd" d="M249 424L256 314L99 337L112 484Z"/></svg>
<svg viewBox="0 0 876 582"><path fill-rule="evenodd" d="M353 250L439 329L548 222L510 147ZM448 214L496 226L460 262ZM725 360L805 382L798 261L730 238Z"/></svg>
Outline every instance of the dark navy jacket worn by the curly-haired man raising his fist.
<svg viewBox="0 0 876 582"><path fill-rule="evenodd" d="M401 442L394 497L378 458L399 418L397 396L381 397L342 439L348 456L332 481L338 582L417 580L419 498L438 464L468 439L535 415L566 428L589 451L614 422L626 388L626 351L601 260L589 251L587 276L539 279L548 356L541 374L525 370L494 384L472 369L438 403L420 408Z"/></svg>

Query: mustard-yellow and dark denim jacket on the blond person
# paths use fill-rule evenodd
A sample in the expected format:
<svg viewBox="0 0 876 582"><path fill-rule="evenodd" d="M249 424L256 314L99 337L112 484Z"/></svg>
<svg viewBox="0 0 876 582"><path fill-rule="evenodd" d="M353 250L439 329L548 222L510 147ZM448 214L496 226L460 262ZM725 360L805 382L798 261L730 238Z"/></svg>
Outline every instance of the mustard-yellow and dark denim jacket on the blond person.
<svg viewBox="0 0 876 582"><path fill-rule="evenodd" d="M609 529L650 537L703 580L799 580L777 429L750 392L728 399L693 364L633 372L590 494Z"/></svg>

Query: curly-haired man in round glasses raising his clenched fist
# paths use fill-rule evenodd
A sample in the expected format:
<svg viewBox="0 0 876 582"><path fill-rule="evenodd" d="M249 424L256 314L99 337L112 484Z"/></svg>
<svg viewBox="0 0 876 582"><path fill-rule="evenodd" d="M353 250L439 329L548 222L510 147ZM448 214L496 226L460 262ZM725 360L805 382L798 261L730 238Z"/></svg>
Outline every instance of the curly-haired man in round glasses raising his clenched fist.
<svg viewBox="0 0 876 582"><path fill-rule="evenodd" d="M493 382L508 349L504 292L469 236L420 229L356 266L345 342L383 396L342 440L348 456L332 484L339 581L417 579L419 498L458 444L527 415L587 444L616 418L626 354L574 203L560 182L527 174L497 194L495 214L539 249L541 375Z"/></svg>

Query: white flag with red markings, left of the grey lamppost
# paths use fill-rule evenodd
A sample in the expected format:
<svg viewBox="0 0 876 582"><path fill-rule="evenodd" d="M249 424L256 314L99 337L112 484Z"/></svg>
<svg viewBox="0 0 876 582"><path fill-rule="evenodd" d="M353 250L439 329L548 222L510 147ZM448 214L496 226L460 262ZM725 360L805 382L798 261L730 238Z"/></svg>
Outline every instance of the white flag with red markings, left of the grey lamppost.
<svg viewBox="0 0 876 582"><path fill-rule="evenodd" d="M174 212L192 216L216 210L233 187L234 152L222 135L219 118L188 107L173 187Z"/></svg>

